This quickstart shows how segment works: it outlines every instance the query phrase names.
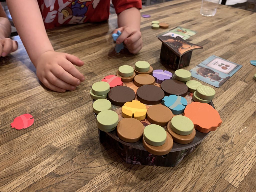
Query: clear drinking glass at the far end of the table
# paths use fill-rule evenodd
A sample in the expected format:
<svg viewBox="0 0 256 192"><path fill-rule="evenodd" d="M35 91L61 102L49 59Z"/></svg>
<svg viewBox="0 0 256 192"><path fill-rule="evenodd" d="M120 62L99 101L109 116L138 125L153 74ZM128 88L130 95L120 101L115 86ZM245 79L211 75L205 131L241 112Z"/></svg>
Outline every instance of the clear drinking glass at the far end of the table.
<svg viewBox="0 0 256 192"><path fill-rule="evenodd" d="M213 17L221 0L202 0L200 14L207 17Z"/></svg>

